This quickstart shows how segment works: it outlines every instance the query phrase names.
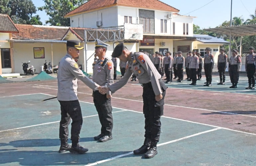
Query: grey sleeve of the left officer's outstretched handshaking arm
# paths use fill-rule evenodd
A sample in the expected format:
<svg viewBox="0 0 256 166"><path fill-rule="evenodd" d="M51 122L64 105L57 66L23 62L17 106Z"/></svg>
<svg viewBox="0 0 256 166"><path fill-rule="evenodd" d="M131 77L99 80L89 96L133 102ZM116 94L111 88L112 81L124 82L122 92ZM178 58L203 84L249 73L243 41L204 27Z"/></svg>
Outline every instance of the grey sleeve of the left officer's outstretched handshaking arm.
<svg viewBox="0 0 256 166"><path fill-rule="evenodd" d="M99 85L94 83L91 79L83 74L83 72L78 68L77 63L71 62L69 66L67 66L68 70L79 80L85 83L92 90L97 90Z"/></svg>

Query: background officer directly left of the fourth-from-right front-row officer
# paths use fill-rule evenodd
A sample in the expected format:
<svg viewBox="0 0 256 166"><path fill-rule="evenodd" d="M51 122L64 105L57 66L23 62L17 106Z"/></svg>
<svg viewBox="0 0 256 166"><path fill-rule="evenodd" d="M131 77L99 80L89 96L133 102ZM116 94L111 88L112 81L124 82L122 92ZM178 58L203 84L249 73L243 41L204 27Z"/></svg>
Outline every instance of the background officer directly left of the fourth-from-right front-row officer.
<svg viewBox="0 0 256 166"><path fill-rule="evenodd" d="M199 58L195 55L195 52L192 51L192 56L190 57L189 69L190 69L190 78L192 83L190 85L196 85L196 72L199 68Z"/></svg>

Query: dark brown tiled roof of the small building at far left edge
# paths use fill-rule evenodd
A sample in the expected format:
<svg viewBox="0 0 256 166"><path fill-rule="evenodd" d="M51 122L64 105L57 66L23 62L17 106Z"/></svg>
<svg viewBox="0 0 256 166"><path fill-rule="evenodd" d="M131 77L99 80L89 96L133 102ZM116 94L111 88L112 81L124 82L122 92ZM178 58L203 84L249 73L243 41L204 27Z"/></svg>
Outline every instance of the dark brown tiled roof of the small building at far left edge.
<svg viewBox="0 0 256 166"><path fill-rule="evenodd" d="M11 18L6 14L0 14L0 32L19 33Z"/></svg>

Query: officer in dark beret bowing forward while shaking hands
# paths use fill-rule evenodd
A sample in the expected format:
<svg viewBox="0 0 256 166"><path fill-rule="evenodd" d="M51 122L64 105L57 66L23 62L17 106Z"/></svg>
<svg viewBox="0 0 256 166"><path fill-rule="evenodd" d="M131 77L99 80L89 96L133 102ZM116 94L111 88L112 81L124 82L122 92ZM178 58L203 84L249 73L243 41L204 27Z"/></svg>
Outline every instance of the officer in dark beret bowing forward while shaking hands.
<svg viewBox="0 0 256 166"><path fill-rule="evenodd" d="M133 151L134 154L145 153L145 158L153 158L157 154L157 143L161 133L160 118L164 112L164 97L167 86L163 83L161 75L157 72L150 58L142 52L131 52L123 43L118 44L113 57L128 62L128 69L124 77L107 87L112 93L124 86L132 73L137 75L139 83L143 86L143 113L145 117L144 144Z"/></svg>

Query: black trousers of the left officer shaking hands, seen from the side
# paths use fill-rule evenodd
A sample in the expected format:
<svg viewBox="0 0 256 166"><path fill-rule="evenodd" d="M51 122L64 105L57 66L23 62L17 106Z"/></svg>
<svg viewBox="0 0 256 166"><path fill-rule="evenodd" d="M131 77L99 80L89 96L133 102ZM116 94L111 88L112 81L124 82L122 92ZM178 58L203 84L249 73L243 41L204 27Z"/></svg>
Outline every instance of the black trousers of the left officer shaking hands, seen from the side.
<svg viewBox="0 0 256 166"><path fill-rule="evenodd" d="M71 140L72 144L78 143L80 131L83 124L81 107L78 100L60 101L61 104L61 121L60 121L60 139L68 138L68 125L71 123Z"/></svg>

